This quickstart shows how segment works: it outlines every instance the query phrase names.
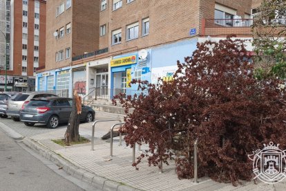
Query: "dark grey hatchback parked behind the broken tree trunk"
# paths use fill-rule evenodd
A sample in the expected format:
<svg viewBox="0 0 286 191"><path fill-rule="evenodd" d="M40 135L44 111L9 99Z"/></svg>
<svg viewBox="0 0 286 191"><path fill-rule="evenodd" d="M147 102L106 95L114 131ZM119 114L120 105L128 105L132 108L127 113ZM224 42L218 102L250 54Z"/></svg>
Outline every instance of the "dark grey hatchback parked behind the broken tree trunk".
<svg viewBox="0 0 286 191"><path fill-rule="evenodd" d="M36 98L30 100L21 110L20 119L27 126L35 123L45 124L49 128L56 128L60 123L68 122L72 111L71 98ZM95 119L95 111L82 105L81 121L91 122Z"/></svg>

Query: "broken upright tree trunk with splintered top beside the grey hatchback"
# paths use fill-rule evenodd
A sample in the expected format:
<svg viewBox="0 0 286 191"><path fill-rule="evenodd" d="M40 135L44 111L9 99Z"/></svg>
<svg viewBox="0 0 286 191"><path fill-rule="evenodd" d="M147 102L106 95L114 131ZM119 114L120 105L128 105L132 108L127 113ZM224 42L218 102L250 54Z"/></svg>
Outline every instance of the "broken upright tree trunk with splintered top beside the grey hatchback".
<svg viewBox="0 0 286 191"><path fill-rule="evenodd" d="M66 128L65 142L70 145L70 142L79 141L79 121L82 113L82 98L77 95L77 90L73 90L73 106Z"/></svg>

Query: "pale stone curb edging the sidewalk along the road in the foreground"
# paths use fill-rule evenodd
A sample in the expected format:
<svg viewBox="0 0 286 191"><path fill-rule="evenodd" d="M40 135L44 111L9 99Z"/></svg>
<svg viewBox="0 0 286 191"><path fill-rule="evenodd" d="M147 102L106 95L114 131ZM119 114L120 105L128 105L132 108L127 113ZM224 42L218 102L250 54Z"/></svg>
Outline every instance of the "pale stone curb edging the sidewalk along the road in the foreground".
<svg viewBox="0 0 286 191"><path fill-rule="evenodd" d="M49 161L52 161L59 167L62 167L62 169L68 174L70 174L71 176L81 181L84 181L86 183L90 183L97 189L100 189L103 191L123 191L123 190L124 191L139 191L136 188L133 188L127 185L122 185L122 183L117 183L115 181L105 179L102 176L97 176L91 172L88 172L87 170L79 168L73 165L73 163L66 161L63 157L51 151L46 146L42 145L36 140L32 140L26 137L26 138L23 138L23 143L26 146L30 147L31 149L35 150L35 152L37 152L41 156L44 156Z"/></svg>

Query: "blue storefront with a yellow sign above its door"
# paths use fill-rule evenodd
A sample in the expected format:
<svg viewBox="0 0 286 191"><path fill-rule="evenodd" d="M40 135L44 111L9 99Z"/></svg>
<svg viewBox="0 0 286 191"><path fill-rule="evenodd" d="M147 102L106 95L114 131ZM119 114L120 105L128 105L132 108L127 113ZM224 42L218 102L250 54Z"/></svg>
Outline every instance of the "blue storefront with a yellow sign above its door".
<svg viewBox="0 0 286 191"><path fill-rule="evenodd" d="M111 99L118 93L138 93L137 84L130 84L133 79L151 82L151 49L144 53L144 57L131 53L111 60Z"/></svg>

